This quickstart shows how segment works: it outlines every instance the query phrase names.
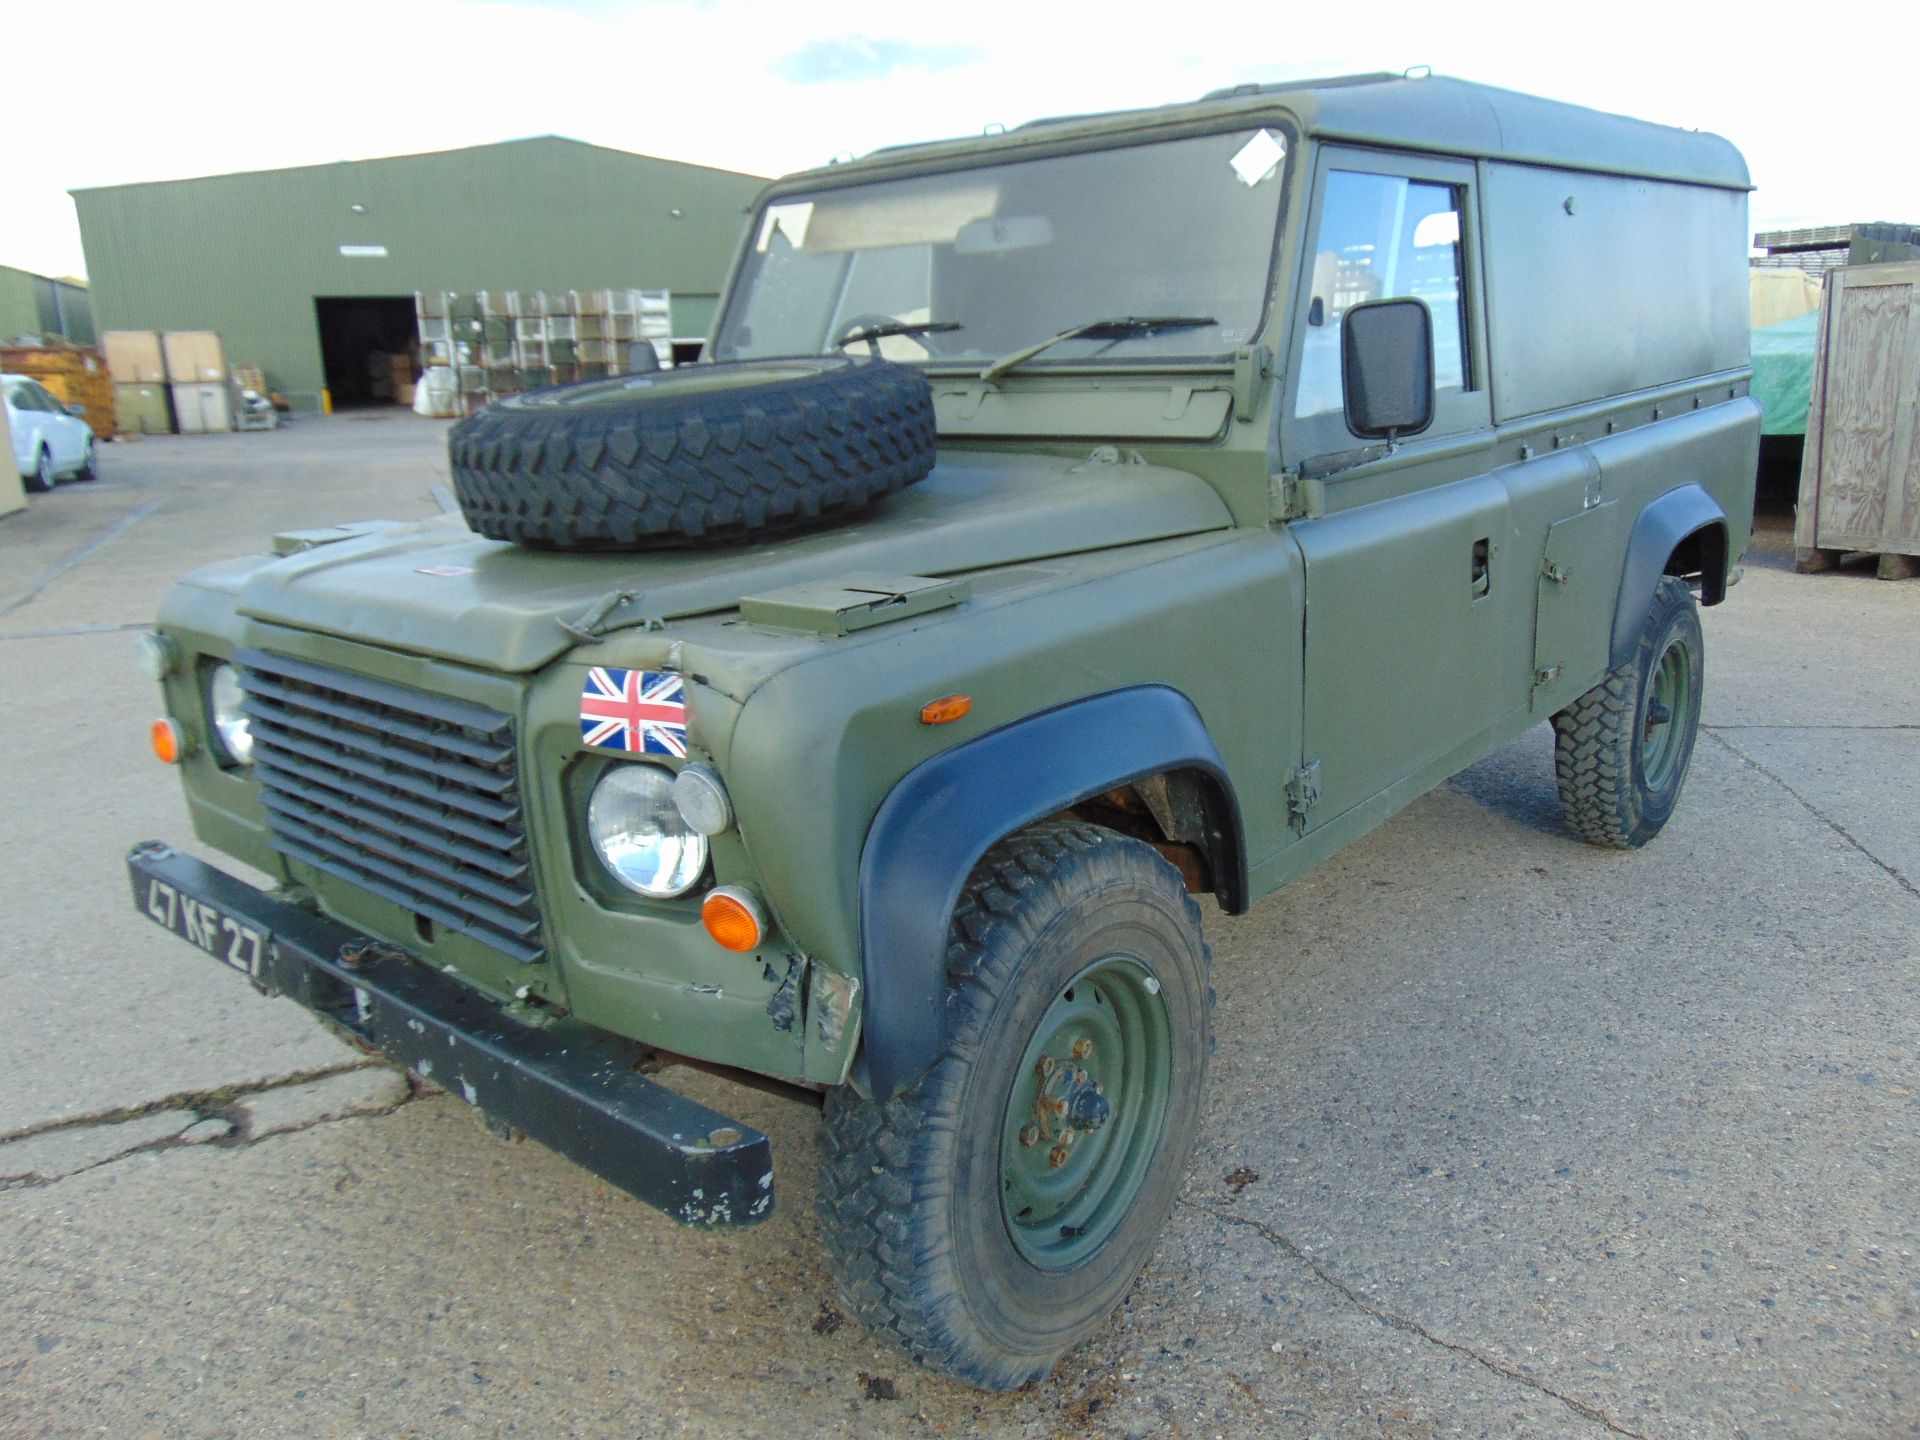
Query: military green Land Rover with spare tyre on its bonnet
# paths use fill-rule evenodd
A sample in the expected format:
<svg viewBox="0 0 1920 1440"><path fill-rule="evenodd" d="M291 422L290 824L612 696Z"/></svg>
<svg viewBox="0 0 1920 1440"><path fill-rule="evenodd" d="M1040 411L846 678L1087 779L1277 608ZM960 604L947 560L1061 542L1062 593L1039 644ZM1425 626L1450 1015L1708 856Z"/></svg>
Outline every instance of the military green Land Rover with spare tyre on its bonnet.
<svg viewBox="0 0 1920 1440"><path fill-rule="evenodd" d="M451 436L142 641L161 925L689 1225L824 1094L860 1317L991 1388L1121 1300L1238 912L1549 722L1644 845L1747 543L1747 171L1446 79L1240 86L766 190L710 361ZM1231 996L1229 996L1231 1002Z"/></svg>

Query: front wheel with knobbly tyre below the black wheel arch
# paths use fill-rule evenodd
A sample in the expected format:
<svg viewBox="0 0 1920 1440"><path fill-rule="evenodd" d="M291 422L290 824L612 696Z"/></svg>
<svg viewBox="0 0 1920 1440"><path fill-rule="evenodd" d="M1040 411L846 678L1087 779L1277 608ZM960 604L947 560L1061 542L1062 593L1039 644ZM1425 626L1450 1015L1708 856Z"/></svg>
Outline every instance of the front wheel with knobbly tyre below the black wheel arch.
<svg viewBox="0 0 1920 1440"><path fill-rule="evenodd" d="M1048 822L981 858L947 966L947 1048L933 1069L885 1102L828 1094L818 1212L841 1294L868 1329L935 1371L1012 1390L1096 1331L1152 1256L1200 1125L1210 954L1179 872L1148 845ZM1148 1025L1164 1014L1152 1033L1165 1066L1146 1064L1146 1044L1129 1054L1129 1014ZM1100 1035L1069 1054L1081 1079L1104 1077L1112 1116L1050 1171L1050 1150L1021 1148L1037 1127L1018 1139L1010 1127L1037 1114L1029 1092L1044 1096L1031 1077L1052 1073L1033 1064L1035 1046L1048 1058L1048 1041L1073 1033ZM1020 1221L1031 1223L1016 1225L1004 1200L1027 1194L1016 1171L1058 1173L1064 1208L1031 1221L1027 1206ZM1056 1238L1066 1217L1085 1223Z"/></svg>

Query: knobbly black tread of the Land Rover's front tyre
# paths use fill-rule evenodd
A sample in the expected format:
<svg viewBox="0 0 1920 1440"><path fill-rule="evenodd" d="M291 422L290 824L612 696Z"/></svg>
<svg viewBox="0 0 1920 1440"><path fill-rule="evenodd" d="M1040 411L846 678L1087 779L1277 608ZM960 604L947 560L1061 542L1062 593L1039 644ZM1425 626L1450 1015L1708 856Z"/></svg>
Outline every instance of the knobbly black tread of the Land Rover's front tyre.
<svg viewBox="0 0 1920 1440"><path fill-rule="evenodd" d="M816 1210L847 1306L910 1359L985 1390L1014 1390L1043 1379L1058 1356L1020 1361L983 1350L960 1313L958 1298L927 1284L924 1267L916 1265L910 1215L937 1196L933 1187L943 1177L929 1175L925 1165L916 1164L916 1154L925 1152L935 1133L954 1127L958 1087L941 1085L941 1069L966 1064L979 1052L991 1000L1012 979L1018 947L1002 941L1006 931L1018 927L1023 902L1054 883L1050 876L1064 856L1112 845L1139 843L1100 826L1046 822L995 845L954 906L947 948L947 973L954 983L947 1054L918 1087L885 1104L841 1087L828 1092L822 1112ZM1179 872L1173 866L1165 872L1198 931L1200 906L1187 895ZM1204 941L1202 964L1212 968L1212 950ZM1212 1006L1212 987L1206 996ZM945 1104L929 1104L937 1096L945 1096ZM918 1188L910 1179L914 1173L922 1177ZM1154 1221L1164 1223L1165 1215ZM1077 1338L1064 1350L1073 1342Z"/></svg>

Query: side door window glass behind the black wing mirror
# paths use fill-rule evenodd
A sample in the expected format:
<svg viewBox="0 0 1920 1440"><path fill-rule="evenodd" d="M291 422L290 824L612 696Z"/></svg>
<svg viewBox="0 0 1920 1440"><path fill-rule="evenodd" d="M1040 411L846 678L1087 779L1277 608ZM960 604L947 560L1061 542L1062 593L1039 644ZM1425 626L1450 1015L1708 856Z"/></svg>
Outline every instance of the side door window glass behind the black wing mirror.
<svg viewBox="0 0 1920 1440"><path fill-rule="evenodd" d="M1453 184L1361 171L1327 175L1296 417L1340 413L1340 317L1363 300L1425 300L1434 315L1436 388L1473 388L1459 213L1461 190Z"/></svg>

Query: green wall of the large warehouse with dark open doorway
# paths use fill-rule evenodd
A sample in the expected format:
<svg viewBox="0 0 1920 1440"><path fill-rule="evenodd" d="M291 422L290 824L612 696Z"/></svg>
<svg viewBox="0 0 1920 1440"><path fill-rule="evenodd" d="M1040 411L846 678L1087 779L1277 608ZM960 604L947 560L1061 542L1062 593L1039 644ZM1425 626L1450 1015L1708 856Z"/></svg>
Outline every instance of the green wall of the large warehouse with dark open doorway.
<svg viewBox="0 0 1920 1440"><path fill-rule="evenodd" d="M541 136L73 202L102 328L217 330L273 386L319 390L315 296L643 286L672 290L674 334L705 334L762 184Z"/></svg>

